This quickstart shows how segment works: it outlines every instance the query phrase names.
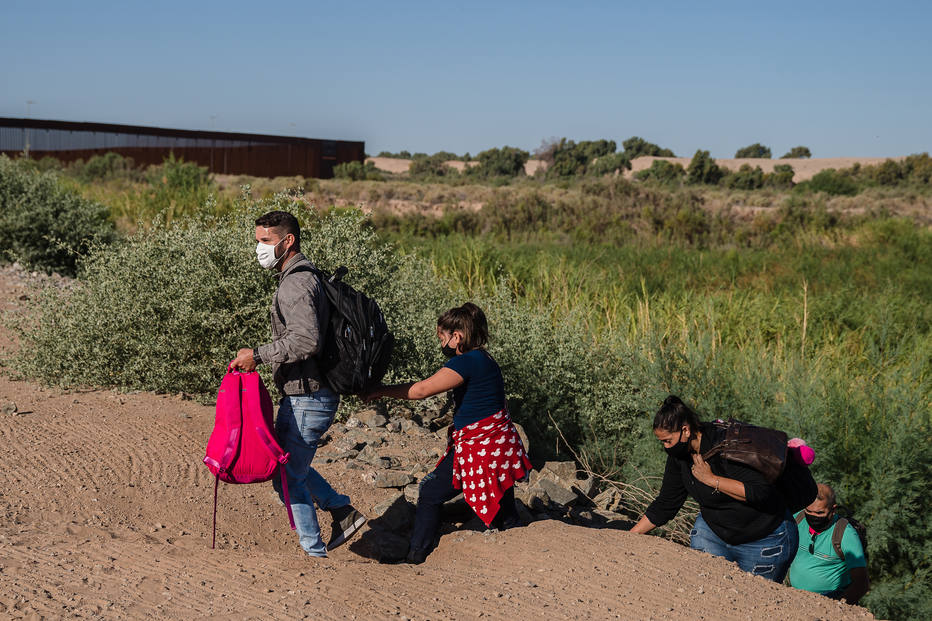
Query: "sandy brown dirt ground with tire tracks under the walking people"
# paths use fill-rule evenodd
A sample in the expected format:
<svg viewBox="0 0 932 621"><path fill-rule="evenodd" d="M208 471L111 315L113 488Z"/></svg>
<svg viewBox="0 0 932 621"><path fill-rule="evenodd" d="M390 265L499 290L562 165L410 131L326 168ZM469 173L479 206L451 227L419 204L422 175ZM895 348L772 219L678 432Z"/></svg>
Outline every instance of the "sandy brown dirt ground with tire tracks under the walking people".
<svg viewBox="0 0 932 621"><path fill-rule="evenodd" d="M24 294L0 270L0 308ZM454 530L420 566L368 558L364 536L311 559L270 484L221 486L212 550L201 463L211 407L0 374L0 405L11 402L18 411L0 415L2 618L873 618L659 538L555 520ZM363 511L391 493L343 462L319 468Z"/></svg>

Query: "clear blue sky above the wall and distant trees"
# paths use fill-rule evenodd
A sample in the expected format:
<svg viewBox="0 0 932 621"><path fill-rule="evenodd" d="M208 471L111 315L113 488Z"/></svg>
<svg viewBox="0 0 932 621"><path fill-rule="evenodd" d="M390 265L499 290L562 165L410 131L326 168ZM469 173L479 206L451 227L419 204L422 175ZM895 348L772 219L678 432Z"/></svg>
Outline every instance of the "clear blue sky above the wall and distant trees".
<svg viewBox="0 0 932 621"><path fill-rule="evenodd" d="M0 116L533 150L932 150L932 2L3 0ZM211 117L214 117L213 119Z"/></svg>

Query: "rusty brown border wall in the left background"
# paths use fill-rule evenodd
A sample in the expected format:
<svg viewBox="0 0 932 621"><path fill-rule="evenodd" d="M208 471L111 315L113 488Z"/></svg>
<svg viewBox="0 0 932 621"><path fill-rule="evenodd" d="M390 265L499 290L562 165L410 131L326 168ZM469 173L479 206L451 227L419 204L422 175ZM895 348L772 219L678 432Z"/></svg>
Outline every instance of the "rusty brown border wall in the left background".
<svg viewBox="0 0 932 621"><path fill-rule="evenodd" d="M113 151L137 166L161 164L174 153L217 174L330 178L336 164L365 159L365 143L110 123L0 117L0 153L62 162Z"/></svg>

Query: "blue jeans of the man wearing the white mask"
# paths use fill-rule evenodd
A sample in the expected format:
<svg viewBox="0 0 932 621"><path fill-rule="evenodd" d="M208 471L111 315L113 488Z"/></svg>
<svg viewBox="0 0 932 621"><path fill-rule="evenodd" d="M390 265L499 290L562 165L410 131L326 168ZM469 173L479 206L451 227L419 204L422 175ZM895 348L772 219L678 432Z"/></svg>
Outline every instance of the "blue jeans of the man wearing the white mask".
<svg viewBox="0 0 932 621"><path fill-rule="evenodd" d="M310 556L327 556L327 546L320 537L314 503L324 511L349 504L349 496L338 494L313 467L317 442L333 423L340 397L329 388L310 395L285 397L278 408L275 433L282 449L291 457L285 465L288 495L294 515L295 530L301 547ZM285 501L280 479L273 479L275 490Z"/></svg>

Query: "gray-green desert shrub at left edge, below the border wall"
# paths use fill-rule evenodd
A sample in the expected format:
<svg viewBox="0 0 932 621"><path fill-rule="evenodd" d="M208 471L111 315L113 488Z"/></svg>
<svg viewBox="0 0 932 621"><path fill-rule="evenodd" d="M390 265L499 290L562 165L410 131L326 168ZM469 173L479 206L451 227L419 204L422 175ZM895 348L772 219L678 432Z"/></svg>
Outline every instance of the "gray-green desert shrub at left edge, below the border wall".
<svg viewBox="0 0 932 621"><path fill-rule="evenodd" d="M0 260L73 276L81 253L113 240L108 215L53 173L24 170L0 156Z"/></svg>

